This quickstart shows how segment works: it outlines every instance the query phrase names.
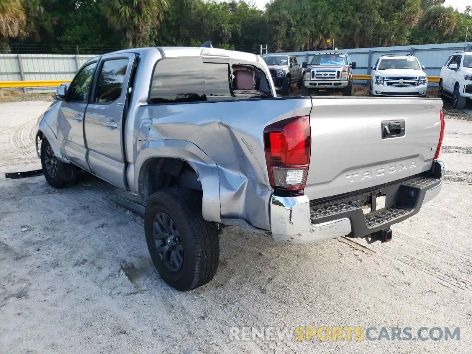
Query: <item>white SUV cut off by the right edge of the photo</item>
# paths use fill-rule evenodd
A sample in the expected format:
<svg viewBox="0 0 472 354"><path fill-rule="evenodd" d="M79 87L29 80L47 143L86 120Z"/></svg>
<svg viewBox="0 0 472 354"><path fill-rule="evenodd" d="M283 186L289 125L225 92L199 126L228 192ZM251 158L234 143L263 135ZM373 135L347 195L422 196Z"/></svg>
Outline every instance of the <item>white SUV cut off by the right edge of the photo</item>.
<svg viewBox="0 0 472 354"><path fill-rule="evenodd" d="M452 106L462 110L472 98L472 52L458 52L447 58L441 69L439 93L452 97Z"/></svg>

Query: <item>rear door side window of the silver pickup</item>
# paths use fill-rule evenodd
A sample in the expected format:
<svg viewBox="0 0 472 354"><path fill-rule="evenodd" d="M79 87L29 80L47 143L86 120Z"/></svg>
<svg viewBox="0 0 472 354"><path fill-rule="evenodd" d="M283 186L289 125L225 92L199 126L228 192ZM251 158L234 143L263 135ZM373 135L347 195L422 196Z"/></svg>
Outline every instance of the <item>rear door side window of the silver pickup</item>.
<svg viewBox="0 0 472 354"><path fill-rule="evenodd" d="M110 103L121 96L127 67L128 59L112 59L103 62L95 90L95 102Z"/></svg>

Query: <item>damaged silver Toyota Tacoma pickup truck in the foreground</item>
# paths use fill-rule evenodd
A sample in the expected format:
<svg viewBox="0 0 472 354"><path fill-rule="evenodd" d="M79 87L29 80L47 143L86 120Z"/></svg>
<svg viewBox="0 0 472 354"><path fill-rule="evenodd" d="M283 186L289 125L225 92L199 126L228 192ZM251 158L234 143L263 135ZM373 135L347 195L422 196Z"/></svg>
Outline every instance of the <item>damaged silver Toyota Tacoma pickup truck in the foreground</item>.
<svg viewBox="0 0 472 354"><path fill-rule="evenodd" d="M156 269L214 277L219 230L275 241L391 239L441 189L440 99L277 98L256 55L146 48L89 60L39 118L46 181L79 169L138 195Z"/></svg>

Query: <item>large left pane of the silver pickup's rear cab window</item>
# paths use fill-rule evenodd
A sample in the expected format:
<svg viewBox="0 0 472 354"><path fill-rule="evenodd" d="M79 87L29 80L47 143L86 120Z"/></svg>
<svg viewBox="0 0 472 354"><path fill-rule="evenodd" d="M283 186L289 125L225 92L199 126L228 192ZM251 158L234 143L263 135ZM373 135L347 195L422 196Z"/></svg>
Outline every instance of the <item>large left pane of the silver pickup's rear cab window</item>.
<svg viewBox="0 0 472 354"><path fill-rule="evenodd" d="M152 103L206 101L202 58L170 58L157 62L152 74Z"/></svg>

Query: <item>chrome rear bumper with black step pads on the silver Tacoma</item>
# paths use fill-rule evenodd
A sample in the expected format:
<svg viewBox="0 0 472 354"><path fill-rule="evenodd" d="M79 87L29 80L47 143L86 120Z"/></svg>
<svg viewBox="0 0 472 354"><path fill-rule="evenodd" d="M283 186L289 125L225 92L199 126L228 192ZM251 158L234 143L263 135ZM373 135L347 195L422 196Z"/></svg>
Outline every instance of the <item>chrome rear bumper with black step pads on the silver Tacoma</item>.
<svg viewBox="0 0 472 354"><path fill-rule="evenodd" d="M436 197L442 187L444 165L440 161L425 176L388 185L349 198L310 205L307 196L272 196L270 201L271 234L281 243L309 244L324 239L364 237L408 219L421 205ZM370 195L386 195L386 208L364 215L359 201Z"/></svg>

